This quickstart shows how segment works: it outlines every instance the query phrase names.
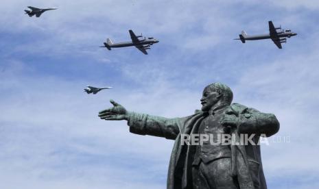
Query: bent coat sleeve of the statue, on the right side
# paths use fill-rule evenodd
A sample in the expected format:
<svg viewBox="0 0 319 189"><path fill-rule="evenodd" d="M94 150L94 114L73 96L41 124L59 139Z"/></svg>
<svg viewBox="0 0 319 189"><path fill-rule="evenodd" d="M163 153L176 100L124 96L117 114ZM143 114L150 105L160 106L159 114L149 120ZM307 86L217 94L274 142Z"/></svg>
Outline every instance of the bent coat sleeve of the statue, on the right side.
<svg viewBox="0 0 319 189"><path fill-rule="evenodd" d="M274 114L259 112L254 108L246 108L241 112L239 118L240 133L272 136L279 131L279 121Z"/></svg>

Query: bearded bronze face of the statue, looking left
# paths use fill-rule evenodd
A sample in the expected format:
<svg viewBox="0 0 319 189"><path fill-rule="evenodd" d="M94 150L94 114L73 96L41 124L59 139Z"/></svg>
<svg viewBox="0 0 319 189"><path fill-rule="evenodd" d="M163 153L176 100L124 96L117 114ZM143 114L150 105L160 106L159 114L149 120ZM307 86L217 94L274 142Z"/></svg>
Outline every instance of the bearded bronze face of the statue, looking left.
<svg viewBox="0 0 319 189"><path fill-rule="evenodd" d="M206 86L206 88L204 88L204 91L202 92L202 99L200 99L200 102L202 104L202 111L207 112L211 110L213 105L215 105L219 101L219 99L220 94L218 94L218 92L216 92L209 86Z"/></svg>

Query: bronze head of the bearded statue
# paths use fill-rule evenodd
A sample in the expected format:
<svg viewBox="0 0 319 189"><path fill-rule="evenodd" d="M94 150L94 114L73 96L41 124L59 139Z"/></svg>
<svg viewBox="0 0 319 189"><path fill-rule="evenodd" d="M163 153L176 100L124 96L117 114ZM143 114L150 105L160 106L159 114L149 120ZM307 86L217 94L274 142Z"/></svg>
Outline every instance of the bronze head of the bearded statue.
<svg viewBox="0 0 319 189"><path fill-rule="evenodd" d="M202 92L202 111L207 112L215 105L231 105L233 101L233 92L231 88L221 83L213 83L204 88Z"/></svg>

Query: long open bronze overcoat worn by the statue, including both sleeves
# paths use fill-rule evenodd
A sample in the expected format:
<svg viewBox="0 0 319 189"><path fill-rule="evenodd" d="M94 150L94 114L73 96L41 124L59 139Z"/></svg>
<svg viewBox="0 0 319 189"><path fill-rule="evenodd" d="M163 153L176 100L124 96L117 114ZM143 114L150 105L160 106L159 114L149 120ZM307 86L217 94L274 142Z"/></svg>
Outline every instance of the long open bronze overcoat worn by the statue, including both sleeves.
<svg viewBox="0 0 319 189"><path fill-rule="evenodd" d="M256 134L253 138L256 143L261 134L271 136L279 130L279 122L274 114L261 113L237 103L229 105L226 109L228 114L230 111L233 112L239 120L237 132ZM130 132L175 140L167 175L168 189L192 188L191 160L194 151L190 145L181 145L181 134L198 134L198 127L203 118L203 112L184 118L163 118L130 112ZM235 161L240 188L266 189L259 145L238 146L238 150Z"/></svg>

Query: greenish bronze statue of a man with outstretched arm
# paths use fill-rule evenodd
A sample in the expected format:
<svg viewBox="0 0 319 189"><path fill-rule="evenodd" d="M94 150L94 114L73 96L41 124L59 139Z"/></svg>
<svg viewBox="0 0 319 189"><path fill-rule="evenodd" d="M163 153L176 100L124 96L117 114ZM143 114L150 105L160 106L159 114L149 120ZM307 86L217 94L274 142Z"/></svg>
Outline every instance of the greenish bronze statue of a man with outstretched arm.
<svg viewBox="0 0 319 189"><path fill-rule="evenodd" d="M134 134L175 140L167 176L169 189L265 189L258 141L261 136L276 134L279 122L274 114L232 104L232 100L231 88L213 83L204 88L200 99L202 110L191 116L163 118L128 112L110 100L113 108L99 112L99 117L127 120L130 132ZM220 141L219 136L226 134L231 135L231 144ZM251 142L236 144L242 134L248 135L257 145ZM198 139L193 137L196 135L202 139L199 145L193 145ZM185 136L191 138L187 144ZM202 136L211 136L212 140Z"/></svg>

